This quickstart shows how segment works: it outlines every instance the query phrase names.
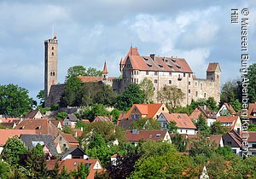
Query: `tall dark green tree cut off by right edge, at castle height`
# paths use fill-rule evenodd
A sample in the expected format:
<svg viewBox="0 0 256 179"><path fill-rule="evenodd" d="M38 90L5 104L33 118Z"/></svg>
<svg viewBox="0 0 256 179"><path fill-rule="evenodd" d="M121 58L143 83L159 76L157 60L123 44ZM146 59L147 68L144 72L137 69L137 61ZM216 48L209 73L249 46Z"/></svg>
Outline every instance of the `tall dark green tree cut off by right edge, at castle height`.
<svg viewBox="0 0 256 179"><path fill-rule="evenodd" d="M248 97L249 101L256 102L256 63L253 63L248 67L247 78L249 79L248 84Z"/></svg>

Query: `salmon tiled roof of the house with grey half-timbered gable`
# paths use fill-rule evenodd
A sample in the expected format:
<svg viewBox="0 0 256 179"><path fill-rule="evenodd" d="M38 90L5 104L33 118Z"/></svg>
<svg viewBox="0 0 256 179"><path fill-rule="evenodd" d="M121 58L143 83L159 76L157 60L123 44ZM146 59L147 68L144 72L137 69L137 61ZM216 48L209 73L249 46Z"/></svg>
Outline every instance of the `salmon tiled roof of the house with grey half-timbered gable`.
<svg viewBox="0 0 256 179"><path fill-rule="evenodd" d="M176 122L177 128L183 129L196 129L195 124L186 113L162 113L166 120L170 123L171 121Z"/></svg>

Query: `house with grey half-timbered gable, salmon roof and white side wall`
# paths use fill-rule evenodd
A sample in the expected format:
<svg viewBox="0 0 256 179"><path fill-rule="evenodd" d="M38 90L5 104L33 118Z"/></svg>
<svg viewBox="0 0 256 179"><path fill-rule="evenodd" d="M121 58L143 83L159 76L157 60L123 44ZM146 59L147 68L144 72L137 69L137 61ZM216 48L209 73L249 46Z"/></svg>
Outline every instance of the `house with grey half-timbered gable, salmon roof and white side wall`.
<svg viewBox="0 0 256 179"><path fill-rule="evenodd" d="M177 133L195 135L195 124L186 113L161 113L157 121L160 122L161 130L167 130L167 124L174 121Z"/></svg>

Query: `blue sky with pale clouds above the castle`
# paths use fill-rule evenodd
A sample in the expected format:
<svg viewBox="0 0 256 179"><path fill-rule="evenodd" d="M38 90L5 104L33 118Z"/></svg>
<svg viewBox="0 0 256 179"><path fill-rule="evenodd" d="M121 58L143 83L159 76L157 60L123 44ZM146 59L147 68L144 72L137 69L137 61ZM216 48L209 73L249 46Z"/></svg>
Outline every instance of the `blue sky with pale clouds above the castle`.
<svg viewBox="0 0 256 179"><path fill-rule="evenodd" d="M238 9L238 24L231 24ZM248 9L247 16L241 9ZM44 40L59 42L58 82L70 66L118 77L129 48L140 55L185 58L197 78L218 62L222 81L240 77L241 18L249 19L247 54L256 62L255 0L0 0L0 85L18 84L34 99L44 90Z"/></svg>

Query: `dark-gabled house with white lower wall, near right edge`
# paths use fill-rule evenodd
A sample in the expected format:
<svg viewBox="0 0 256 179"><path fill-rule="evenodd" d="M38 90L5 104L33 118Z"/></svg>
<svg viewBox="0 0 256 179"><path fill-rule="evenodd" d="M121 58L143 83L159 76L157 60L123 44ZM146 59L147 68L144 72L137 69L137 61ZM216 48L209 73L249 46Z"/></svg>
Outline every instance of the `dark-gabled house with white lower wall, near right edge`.
<svg viewBox="0 0 256 179"><path fill-rule="evenodd" d="M238 156L241 156L241 136L232 130L223 136L224 146L229 146Z"/></svg>

